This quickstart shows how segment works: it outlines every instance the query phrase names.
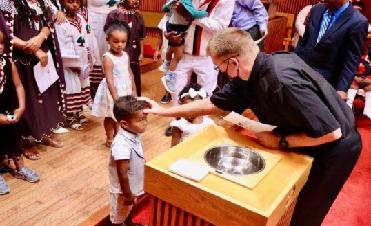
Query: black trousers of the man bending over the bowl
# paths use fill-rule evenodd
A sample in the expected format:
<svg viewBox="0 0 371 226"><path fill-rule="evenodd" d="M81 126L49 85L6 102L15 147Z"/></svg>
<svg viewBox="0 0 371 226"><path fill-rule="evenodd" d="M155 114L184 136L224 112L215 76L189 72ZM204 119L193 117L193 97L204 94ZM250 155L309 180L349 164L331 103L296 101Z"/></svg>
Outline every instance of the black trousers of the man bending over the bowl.
<svg viewBox="0 0 371 226"><path fill-rule="evenodd" d="M299 193L290 225L321 225L361 154L359 133L330 148L315 148L312 169ZM307 153L308 154L308 153Z"/></svg>

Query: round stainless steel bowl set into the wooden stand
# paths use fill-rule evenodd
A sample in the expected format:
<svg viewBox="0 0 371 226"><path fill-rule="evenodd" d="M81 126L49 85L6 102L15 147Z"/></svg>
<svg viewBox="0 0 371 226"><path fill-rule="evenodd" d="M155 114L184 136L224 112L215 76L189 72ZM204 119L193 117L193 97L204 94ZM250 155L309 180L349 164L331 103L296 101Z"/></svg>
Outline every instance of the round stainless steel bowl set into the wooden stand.
<svg viewBox="0 0 371 226"><path fill-rule="evenodd" d="M204 159L220 174L245 176L257 174L265 168L265 160L258 152L235 145L210 148L205 152Z"/></svg>

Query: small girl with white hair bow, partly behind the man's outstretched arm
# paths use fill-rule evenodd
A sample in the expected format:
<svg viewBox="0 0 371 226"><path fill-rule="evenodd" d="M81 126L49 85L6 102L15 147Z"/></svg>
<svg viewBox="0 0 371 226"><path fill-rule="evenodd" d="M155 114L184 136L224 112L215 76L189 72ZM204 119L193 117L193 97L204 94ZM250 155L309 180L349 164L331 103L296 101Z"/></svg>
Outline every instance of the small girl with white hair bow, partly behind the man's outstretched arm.
<svg viewBox="0 0 371 226"><path fill-rule="evenodd" d="M190 82L179 93L179 104L188 104L194 100L201 100L208 97L205 89L199 84ZM203 117L181 117L179 120L174 120L170 123L172 126L171 146L176 146L183 142L188 137L198 133L210 125L215 124L212 119L207 116Z"/></svg>

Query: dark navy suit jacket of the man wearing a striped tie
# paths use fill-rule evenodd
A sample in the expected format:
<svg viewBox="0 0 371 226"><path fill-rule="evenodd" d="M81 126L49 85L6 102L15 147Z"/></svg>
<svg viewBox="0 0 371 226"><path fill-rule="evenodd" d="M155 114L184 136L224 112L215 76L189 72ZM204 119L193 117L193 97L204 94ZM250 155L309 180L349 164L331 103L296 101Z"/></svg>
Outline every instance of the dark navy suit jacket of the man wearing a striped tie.
<svg viewBox="0 0 371 226"><path fill-rule="evenodd" d="M357 73L368 20L350 4L316 44L325 10L325 4L314 6L304 36L294 52L322 74L334 89L346 92Z"/></svg>

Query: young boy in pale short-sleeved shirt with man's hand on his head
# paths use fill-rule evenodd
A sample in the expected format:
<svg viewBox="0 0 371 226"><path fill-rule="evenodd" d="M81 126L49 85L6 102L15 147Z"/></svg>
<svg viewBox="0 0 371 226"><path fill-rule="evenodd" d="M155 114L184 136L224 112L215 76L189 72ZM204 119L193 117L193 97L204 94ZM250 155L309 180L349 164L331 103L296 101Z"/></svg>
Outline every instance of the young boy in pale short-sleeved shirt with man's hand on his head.
<svg viewBox="0 0 371 226"><path fill-rule="evenodd" d="M113 114L120 124L119 133L111 146L110 220L113 225L132 225L128 217L137 196L144 194L144 159L141 134L147 128L147 115L143 109L148 104L132 95L126 95L114 103ZM124 224L125 221L125 224Z"/></svg>

